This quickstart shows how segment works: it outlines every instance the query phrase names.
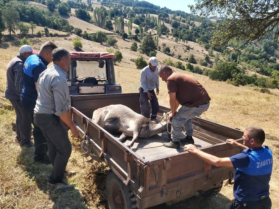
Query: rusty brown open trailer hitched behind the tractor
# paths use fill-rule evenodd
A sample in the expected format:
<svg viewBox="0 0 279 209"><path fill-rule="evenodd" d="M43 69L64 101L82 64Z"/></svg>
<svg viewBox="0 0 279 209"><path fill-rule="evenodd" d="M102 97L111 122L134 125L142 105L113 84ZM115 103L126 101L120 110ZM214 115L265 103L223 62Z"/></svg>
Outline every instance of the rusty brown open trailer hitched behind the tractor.
<svg viewBox="0 0 279 209"><path fill-rule="evenodd" d="M121 104L140 113L138 93L71 96L71 117L80 136L90 143L92 151L110 167L106 190L110 209L144 209L161 203L176 203L197 194L211 196L221 190L222 182L232 180L233 168L215 167L183 148L162 146L167 133L140 138L131 148L90 118L94 110ZM160 106L158 118L169 108ZM218 157L240 152L226 144L232 138L242 143L243 131L202 118L193 118L195 145Z"/></svg>

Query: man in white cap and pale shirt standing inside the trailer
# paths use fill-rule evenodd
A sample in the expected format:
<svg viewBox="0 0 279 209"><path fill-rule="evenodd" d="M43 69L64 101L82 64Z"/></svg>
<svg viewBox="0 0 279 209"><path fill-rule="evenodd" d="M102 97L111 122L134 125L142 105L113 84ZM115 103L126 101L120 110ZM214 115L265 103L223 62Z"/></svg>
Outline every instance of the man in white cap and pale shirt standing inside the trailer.
<svg viewBox="0 0 279 209"><path fill-rule="evenodd" d="M158 60L149 58L149 65L140 71L140 109L142 115L150 120L155 120L159 111L159 103L156 95L159 94ZM154 89L156 88L156 94ZM148 101L151 104L151 114L148 112Z"/></svg>

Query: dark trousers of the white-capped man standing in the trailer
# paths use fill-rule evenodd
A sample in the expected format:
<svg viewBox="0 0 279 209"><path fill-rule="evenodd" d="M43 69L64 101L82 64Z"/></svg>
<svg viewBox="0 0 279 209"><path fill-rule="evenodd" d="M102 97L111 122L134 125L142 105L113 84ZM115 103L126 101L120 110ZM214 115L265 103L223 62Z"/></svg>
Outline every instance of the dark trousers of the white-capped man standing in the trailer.
<svg viewBox="0 0 279 209"><path fill-rule="evenodd" d="M142 111L142 115L146 118L150 118L151 120L156 119L157 113L159 111L159 103L158 103L158 99L157 99L154 89L149 91L153 95L153 96L151 96L151 100L149 100L147 93L144 92L144 89L142 89L140 87L139 90L140 90L140 93L139 93L140 109ZM148 106L149 106L148 101L150 101L150 104L151 104L150 116L148 113Z"/></svg>

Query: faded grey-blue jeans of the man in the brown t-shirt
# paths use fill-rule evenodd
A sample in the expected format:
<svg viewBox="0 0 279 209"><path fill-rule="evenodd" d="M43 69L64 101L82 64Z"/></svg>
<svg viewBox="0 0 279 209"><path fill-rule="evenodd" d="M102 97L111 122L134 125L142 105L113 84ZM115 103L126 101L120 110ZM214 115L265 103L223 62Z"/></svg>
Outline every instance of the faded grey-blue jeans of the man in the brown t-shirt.
<svg viewBox="0 0 279 209"><path fill-rule="evenodd" d="M180 140L181 128L184 126L187 136L193 136L192 118L200 116L208 109L210 102L199 107L186 107L183 105L171 118L171 138L173 141Z"/></svg>

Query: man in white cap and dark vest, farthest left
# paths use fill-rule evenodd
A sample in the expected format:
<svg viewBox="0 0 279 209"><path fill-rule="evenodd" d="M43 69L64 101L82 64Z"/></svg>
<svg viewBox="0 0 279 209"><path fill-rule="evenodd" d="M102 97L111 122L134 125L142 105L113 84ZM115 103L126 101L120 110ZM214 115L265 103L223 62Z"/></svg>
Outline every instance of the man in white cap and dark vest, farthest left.
<svg viewBox="0 0 279 209"><path fill-rule="evenodd" d="M26 126L24 118L28 117L28 112L23 109L20 102L20 93L22 90L22 76L23 65L27 57L37 52L29 45L23 45L19 48L19 54L14 57L7 66L7 86L5 90L5 97L10 100L17 115L17 140L23 146L32 147L34 143L31 142L31 125Z"/></svg>

